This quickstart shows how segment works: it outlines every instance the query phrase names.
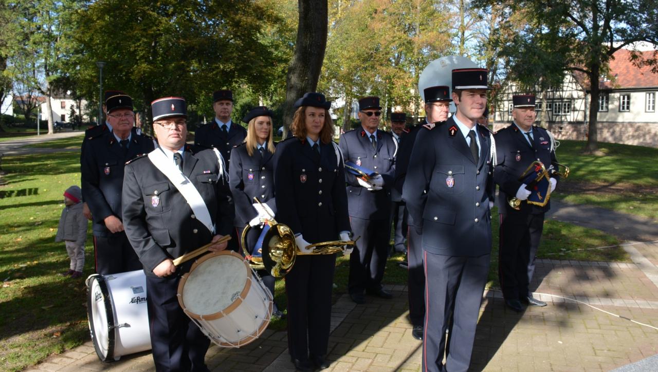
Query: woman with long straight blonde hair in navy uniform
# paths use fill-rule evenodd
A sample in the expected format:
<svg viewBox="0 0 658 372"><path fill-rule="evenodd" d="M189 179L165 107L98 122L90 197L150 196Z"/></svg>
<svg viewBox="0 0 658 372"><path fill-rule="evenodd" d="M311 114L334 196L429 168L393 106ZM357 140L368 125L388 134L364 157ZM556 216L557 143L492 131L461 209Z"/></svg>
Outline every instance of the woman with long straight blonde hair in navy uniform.
<svg viewBox="0 0 658 372"><path fill-rule="evenodd" d="M260 228L261 220L271 218L263 210L263 207L254 200L254 197L257 197L263 203L263 206L270 210L272 216L276 211L274 177L272 176L274 170L272 114L272 110L265 106L258 106L249 111L242 119L243 122L248 124L245 142L234 147L231 151L228 183L236 206L234 225L238 231L238 238L242 236L242 231L247 224L253 227L247 231L245 237L246 250L249 254L256 253L253 252L253 248L262 231ZM258 274L263 279L265 287L272 292L272 298L274 298L274 281L276 281L276 278L272 277L266 270L259 270ZM275 303L272 317L282 317L282 315L283 312L278 309Z"/></svg>

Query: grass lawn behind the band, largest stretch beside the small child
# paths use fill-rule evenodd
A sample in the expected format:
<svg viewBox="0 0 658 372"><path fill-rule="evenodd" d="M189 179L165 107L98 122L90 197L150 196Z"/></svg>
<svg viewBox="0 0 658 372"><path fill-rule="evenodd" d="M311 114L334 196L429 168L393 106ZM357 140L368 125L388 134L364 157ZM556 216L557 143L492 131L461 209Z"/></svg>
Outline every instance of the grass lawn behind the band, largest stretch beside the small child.
<svg viewBox="0 0 658 372"><path fill-rule="evenodd" d="M73 141L80 143L82 137L52 141L45 147L66 148ZM3 158L3 169L9 174L3 176L8 184L0 186L1 370L23 369L89 340L84 281L57 275L68 269L68 257L64 244L54 242L64 189L80 184L79 156L78 152L57 152ZM563 161L569 164L569 160ZM494 213L489 283L493 287L497 285L496 217ZM626 261L620 248L570 251L615 243L614 237L599 231L546 221L539 255L561 260ZM91 235L86 245L85 277L93 273ZM384 283L406 283L407 269L398 266L401 260L400 255L388 260ZM339 257L334 300L347 292L348 271L349 260ZM277 282L275 298L285 308L284 281ZM273 321L270 327L284 330L286 320Z"/></svg>

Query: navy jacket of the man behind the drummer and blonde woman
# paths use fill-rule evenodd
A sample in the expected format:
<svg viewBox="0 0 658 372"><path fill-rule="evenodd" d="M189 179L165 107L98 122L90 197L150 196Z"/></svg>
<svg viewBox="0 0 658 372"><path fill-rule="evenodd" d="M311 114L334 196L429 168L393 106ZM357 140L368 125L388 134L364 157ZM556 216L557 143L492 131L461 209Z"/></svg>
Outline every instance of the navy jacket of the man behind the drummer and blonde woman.
<svg viewBox="0 0 658 372"><path fill-rule="evenodd" d="M226 137L222 128L219 128L215 118L213 118L212 122L197 128L194 132L194 144L206 148L215 147L224 156L226 168L231 169L231 150L233 147L240 145L246 137L247 129L232 120L231 128L228 129L228 137Z"/></svg>

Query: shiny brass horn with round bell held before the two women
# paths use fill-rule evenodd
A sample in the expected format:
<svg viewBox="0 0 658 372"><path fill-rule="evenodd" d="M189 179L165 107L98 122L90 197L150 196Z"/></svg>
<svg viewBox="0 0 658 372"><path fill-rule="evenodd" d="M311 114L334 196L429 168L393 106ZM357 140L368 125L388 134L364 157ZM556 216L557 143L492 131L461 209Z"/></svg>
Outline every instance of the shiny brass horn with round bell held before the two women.
<svg viewBox="0 0 658 372"><path fill-rule="evenodd" d="M257 197L253 198L256 202L261 204ZM265 269L270 272L273 277L284 277L295 264L295 257L298 255L308 254L334 254L338 252L345 252L345 246L353 246L356 241L326 241L322 243L315 243L307 246L313 248L312 252L301 252L297 249L295 243L295 234L287 225L278 223L274 220L274 216L270 219L262 220L269 227L263 239L263 247L261 248L262 258L253 257L247 251L247 231L251 226L247 224L242 231L240 241L242 243L242 251L249 260L249 266L253 269Z"/></svg>

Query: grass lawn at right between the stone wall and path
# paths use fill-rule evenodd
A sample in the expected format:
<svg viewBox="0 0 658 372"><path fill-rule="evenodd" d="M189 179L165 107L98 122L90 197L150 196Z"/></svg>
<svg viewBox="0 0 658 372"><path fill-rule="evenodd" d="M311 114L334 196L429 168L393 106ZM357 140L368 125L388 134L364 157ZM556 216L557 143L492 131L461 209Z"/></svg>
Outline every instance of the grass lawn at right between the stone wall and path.
<svg viewBox="0 0 658 372"><path fill-rule="evenodd" d="M603 156L585 156L584 145L560 141L557 158L571 174L551 197L658 221L658 149L599 143Z"/></svg>

